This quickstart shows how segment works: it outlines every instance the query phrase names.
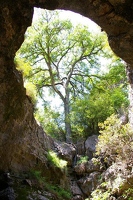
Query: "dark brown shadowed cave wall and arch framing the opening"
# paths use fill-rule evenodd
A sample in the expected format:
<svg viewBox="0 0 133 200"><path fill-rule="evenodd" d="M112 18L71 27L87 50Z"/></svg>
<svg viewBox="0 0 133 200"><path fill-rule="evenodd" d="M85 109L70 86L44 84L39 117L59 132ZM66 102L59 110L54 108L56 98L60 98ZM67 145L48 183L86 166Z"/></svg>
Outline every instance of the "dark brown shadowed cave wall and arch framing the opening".
<svg viewBox="0 0 133 200"><path fill-rule="evenodd" d="M78 12L106 31L112 50L133 65L132 0L1 0L0 1L0 169L27 170L45 163L45 153L53 141L33 117L14 55L30 26L33 7ZM130 76L129 76L130 78ZM130 78L131 91L133 81ZM133 95L131 95L133 96ZM132 104L131 104L132 106Z"/></svg>

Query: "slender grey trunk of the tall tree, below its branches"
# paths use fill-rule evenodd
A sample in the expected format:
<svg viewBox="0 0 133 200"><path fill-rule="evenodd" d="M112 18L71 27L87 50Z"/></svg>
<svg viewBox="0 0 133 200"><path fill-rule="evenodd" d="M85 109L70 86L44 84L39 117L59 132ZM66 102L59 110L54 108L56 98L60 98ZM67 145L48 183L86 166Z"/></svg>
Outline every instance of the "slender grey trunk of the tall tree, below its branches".
<svg viewBox="0 0 133 200"><path fill-rule="evenodd" d="M71 122L70 122L70 99L69 99L69 90L66 90L66 97L64 101L64 114L65 114L65 131L66 131L66 142L72 141L71 134Z"/></svg>

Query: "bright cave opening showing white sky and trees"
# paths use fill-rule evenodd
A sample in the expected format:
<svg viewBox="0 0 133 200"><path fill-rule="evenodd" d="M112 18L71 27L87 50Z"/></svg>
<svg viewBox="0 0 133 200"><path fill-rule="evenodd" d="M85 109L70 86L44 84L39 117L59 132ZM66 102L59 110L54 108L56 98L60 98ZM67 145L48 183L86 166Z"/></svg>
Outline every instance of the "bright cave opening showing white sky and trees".
<svg viewBox="0 0 133 200"><path fill-rule="evenodd" d="M44 27L44 29L42 27ZM81 29L84 30L81 31ZM89 35L87 35L87 32ZM32 26L29 27L25 33L25 40L27 38L27 43L24 42L20 50L17 52L17 69L24 75L24 84L27 96L34 104L35 118L49 135L67 142L71 141L70 137L73 138L72 140L76 141L79 135L83 138L87 138L88 135L99 134L98 123L103 122L113 112L116 112L119 115L124 114L125 106L128 104L127 101L124 102L124 100L119 99L120 103L116 103L117 100L114 99L114 108L112 108L113 105L105 99L103 95L100 98L101 102L104 102L104 105L97 103L99 104L97 107L106 105L106 109L108 109L108 104L111 104L111 111L109 111L109 114L101 114L101 119L92 117L91 115L88 117L89 114L86 114L87 116L83 115L86 110L87 112L95 112L94 115L98 115L97 112L99 112L99 108L97 108L97 111L91 110L91 108L89 108L90 110L88 109L88 102L89 99L91 99L89 95L96 92L94 88L97 86L94 86L94 82L100 84L101 77L105 76L111 67L117 67L119 65L123 69L125 65L124 61L112 52L108 45L105 32L103 32L98 25L88 18L71 11L48 11L34 8ZM68 40L69 44L67 44ZM75 44L72 43L73 40L75 40L75 44L78 43L79 40L80 45L78 44L79 46L74 46ZM93 45L95 51L93 51L91 46L92 43L96 43L95 46ZM77 50L72 49L73 46L75 49L77 48ZM89 48L92 49L89 51L87 50ZM29 51L29 53L27 51ZM88 54L85 51L88 51ZM78 57L79 52L82 52L80 57ZM91 57L91 54L94 57ZM72 58L72 56L74 57ZM87 56L90 56L89 60L87 60ZM76 57L78 57L78 60L76 60ZM65 60L63 60L64 58ZM75 63L73 63L72 59L75 59ZM79 64L76 66L78 62ZM68 68L68 71L63 68L65 65L65 68ZM87 65L88 69L86 67ZM74 66L73 69L72 66ZM80 66L82 66L82 69ZM71 69L73 70L72 73ZM124 70L122 73L123 72ZM73 75L75 75L75 77L73 77ZM120 74L114 74L113 76L118 75ZM124 77L123 80L119 81L123 82L125 80L126 78ZM43 82L45 82L44 85ZM119 86L121 85L120 83L117 84ZM126 98L126 86L124 86L123 90L125 94L115 94L116 97L112 98L121 98L119 95L122 95L123 99L123 95L125 95ZM99 94L100 89L97 92ZM114 90L112 93L113 92ZM76 95L78 97L77 100ZM38 96L39 100L36 96ZM70 102L67 102L68 98ZM93 96L93 100L91 99L91 101L95 102L95 99L96 97ZM67 104L71 104L71 106L66 106ZM74 106L74 104L77 105ZM85 104L83 108L82 104ZM96 107L92 104L91 106L94 108ZM102 110L105 109L102 108ZM65 112L67 112L66 115ZM78 114L76 114L76 112L78 112ZM85 119L82 121L82 118ZM89 123L87 120L90 120ZM76 126L74 124L76 124ZM66 136L67 132L69 132L68 138ZM77 132L79 133L77 134Z"/></svg>

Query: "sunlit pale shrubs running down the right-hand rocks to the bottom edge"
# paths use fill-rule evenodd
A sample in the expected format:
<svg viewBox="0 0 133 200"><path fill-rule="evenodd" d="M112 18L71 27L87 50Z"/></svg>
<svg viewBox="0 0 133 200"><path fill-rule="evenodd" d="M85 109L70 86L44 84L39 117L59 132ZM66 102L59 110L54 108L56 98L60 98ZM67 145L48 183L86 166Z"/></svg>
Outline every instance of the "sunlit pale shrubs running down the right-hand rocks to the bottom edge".
<svg viewBox="0 0 133 200"><path fill-rule="evenodd" d="M112 167L116 173L110 174L110 178L99 180L98 187L92 192L90 200L106 200L114 194L121 193L122 199L131 200L133 189L128 187L124 174L124 166L128 164L129 172L132 170L133 160L133 131L130 125L122 124L117 115L111 115L99 124L100 135L96 147L96 155L102 156L104 162ZM123 167L118 171L118 166ZM126 169L125 169L126 170ZM113 177L112 177L113 176Z"/></svg>

